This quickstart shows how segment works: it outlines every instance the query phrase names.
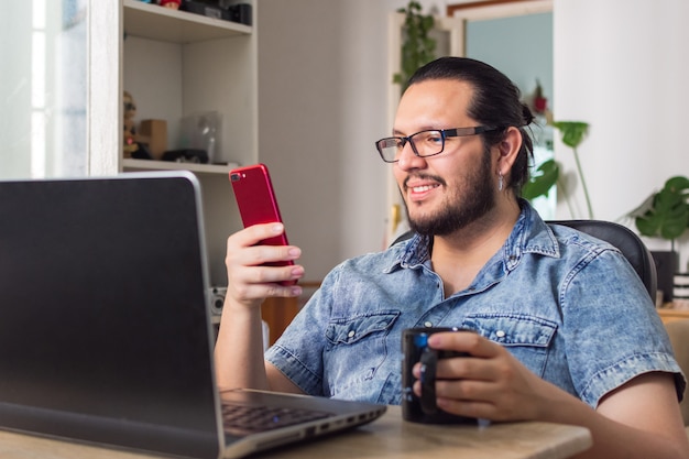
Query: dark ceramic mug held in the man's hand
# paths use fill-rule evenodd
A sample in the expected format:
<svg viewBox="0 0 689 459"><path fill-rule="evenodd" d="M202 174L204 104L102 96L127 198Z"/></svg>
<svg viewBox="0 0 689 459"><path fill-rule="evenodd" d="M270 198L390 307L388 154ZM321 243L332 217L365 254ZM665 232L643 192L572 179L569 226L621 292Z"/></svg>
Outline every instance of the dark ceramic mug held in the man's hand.
<svg viewBox="0 0 689 459"><path fill-rule="evenodd" d="M440 331L472 331L457 327L408 328L402 332L402 417L414 423L458 424L475 423L472 417L444 412L436 405L436 368L438 359L466 357L464 352L446 351L428 347L428 337ZM422 396L414 394L416 379L412 370L422 362Z"/></svg>

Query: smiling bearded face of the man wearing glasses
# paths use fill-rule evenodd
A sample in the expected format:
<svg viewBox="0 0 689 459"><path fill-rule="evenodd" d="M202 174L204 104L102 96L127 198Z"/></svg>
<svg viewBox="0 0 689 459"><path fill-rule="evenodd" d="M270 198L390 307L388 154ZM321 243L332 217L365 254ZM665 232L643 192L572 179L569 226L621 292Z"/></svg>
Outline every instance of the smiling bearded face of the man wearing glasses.
<svg viewBox="0 0 689 459"><path fill-rule="evenodd" d="M457 80L426 80L411 86L397 108L393 135L427 129L469 128L473 89ZM409 226L423 234L449 234L484 216L495 205L490 153L480 135L448 138L437 156L418 157L405 145L394 174Z"/></svg>

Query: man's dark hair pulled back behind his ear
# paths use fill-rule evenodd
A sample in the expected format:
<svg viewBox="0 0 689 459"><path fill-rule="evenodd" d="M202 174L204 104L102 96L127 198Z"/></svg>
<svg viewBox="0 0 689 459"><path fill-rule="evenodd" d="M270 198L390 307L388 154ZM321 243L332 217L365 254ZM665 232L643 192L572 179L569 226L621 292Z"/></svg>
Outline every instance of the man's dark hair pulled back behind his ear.
<svg viewBox="0 0 689 459"><path fill-rule="evenodd" d="M440 57L433 61L412 75L408 86L429 79L456 79L473 87L474 94L467 114L480 124L502 128L481 134L488 147L502 141L508 127L520 130L522 147L512 166L507 185L520 196L522 186L528 181L528 165L534 152L534 142L526 132L534 116L520 100L520 88L494 67L468 57Z"/></svg>

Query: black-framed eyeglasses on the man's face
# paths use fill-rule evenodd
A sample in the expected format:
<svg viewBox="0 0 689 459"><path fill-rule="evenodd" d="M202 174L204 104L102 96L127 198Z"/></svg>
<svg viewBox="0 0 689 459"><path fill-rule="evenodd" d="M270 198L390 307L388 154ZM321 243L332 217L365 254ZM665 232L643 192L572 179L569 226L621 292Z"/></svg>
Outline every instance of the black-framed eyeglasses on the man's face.
<svg viewBox="0 0 689 459"><path fill-rule="evenodd" d="M478 125L475 128L430 129L419 131L407 136L385 138L375 142L375 147L386 163L400 161L402 150L407 142L412 151L419 157L435 156L445 150L445 139L475 135L483 132L495 131L493 125Z"/></svg>

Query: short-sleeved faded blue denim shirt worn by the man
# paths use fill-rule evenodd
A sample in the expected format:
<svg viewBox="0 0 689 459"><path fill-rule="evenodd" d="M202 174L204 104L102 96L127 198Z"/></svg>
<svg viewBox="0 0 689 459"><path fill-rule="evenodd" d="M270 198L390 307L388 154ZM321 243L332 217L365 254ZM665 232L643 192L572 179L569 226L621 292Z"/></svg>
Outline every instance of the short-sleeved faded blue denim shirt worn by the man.
<svg viewBox="0 0 689 459"><path fill-rule="evenodd" d="M675 373L681 394L665 328L621 252L521 205L505 244L467 289L445 297L428 240L416 236L335 267L266 360L311 395L400 404L402 331L456 326L593 407L650 371Z"/></svg>

